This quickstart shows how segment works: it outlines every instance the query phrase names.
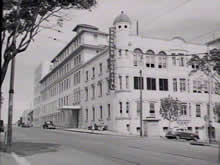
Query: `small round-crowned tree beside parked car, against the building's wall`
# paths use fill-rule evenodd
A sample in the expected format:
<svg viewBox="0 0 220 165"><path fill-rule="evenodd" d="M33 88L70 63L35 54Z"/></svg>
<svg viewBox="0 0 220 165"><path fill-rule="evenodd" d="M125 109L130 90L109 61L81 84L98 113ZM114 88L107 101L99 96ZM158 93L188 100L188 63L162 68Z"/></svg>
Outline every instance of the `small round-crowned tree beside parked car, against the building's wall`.
<svg viewBox="0 0 220 165"><path fill-rule="evenodd" d="M163 119L169 121L169 129L172 122L177 121L181 116L182 103L171 96L160 99L160 114Z"/></svg>

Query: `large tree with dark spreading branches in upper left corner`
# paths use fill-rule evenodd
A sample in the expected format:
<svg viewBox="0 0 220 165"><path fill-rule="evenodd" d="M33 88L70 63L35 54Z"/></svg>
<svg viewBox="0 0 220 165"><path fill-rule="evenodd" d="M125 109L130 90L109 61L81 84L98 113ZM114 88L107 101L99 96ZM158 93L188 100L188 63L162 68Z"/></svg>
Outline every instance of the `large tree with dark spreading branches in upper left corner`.
<svg viewBox="0 0 220 165"><path fill-rule="evenodd" d="M62 22L61 10L91 9L95 4L96 0L3 0L0 87L9 62L27 50L42 23L49 22L50 17L57 17Z"/></svg>

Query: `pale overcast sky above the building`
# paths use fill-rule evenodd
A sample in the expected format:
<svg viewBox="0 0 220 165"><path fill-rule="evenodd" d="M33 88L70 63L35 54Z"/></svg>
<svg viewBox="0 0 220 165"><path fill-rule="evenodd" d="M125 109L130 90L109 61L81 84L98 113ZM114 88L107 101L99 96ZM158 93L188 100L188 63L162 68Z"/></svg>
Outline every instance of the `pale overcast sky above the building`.
<svg viewBox="0 0 220 165"><path fill-rule="evenodd" d="M77 24L91 24L108 32L114 18L124 11L133 23L139 21L140 34L171 39L181 36L186 41L203 44L220 37L220 0L98 0L91 11L70 10L62 32L44 29L28 50L16 57L13 121L33 102L34 69L42 61L51 60L67 44ZM53 21L52 25L53 25ZM54 22L55 23L55 22ZM56 38L57 40L53 40ZM7 121L9 73L3 85L2 117Z"/></svg>

